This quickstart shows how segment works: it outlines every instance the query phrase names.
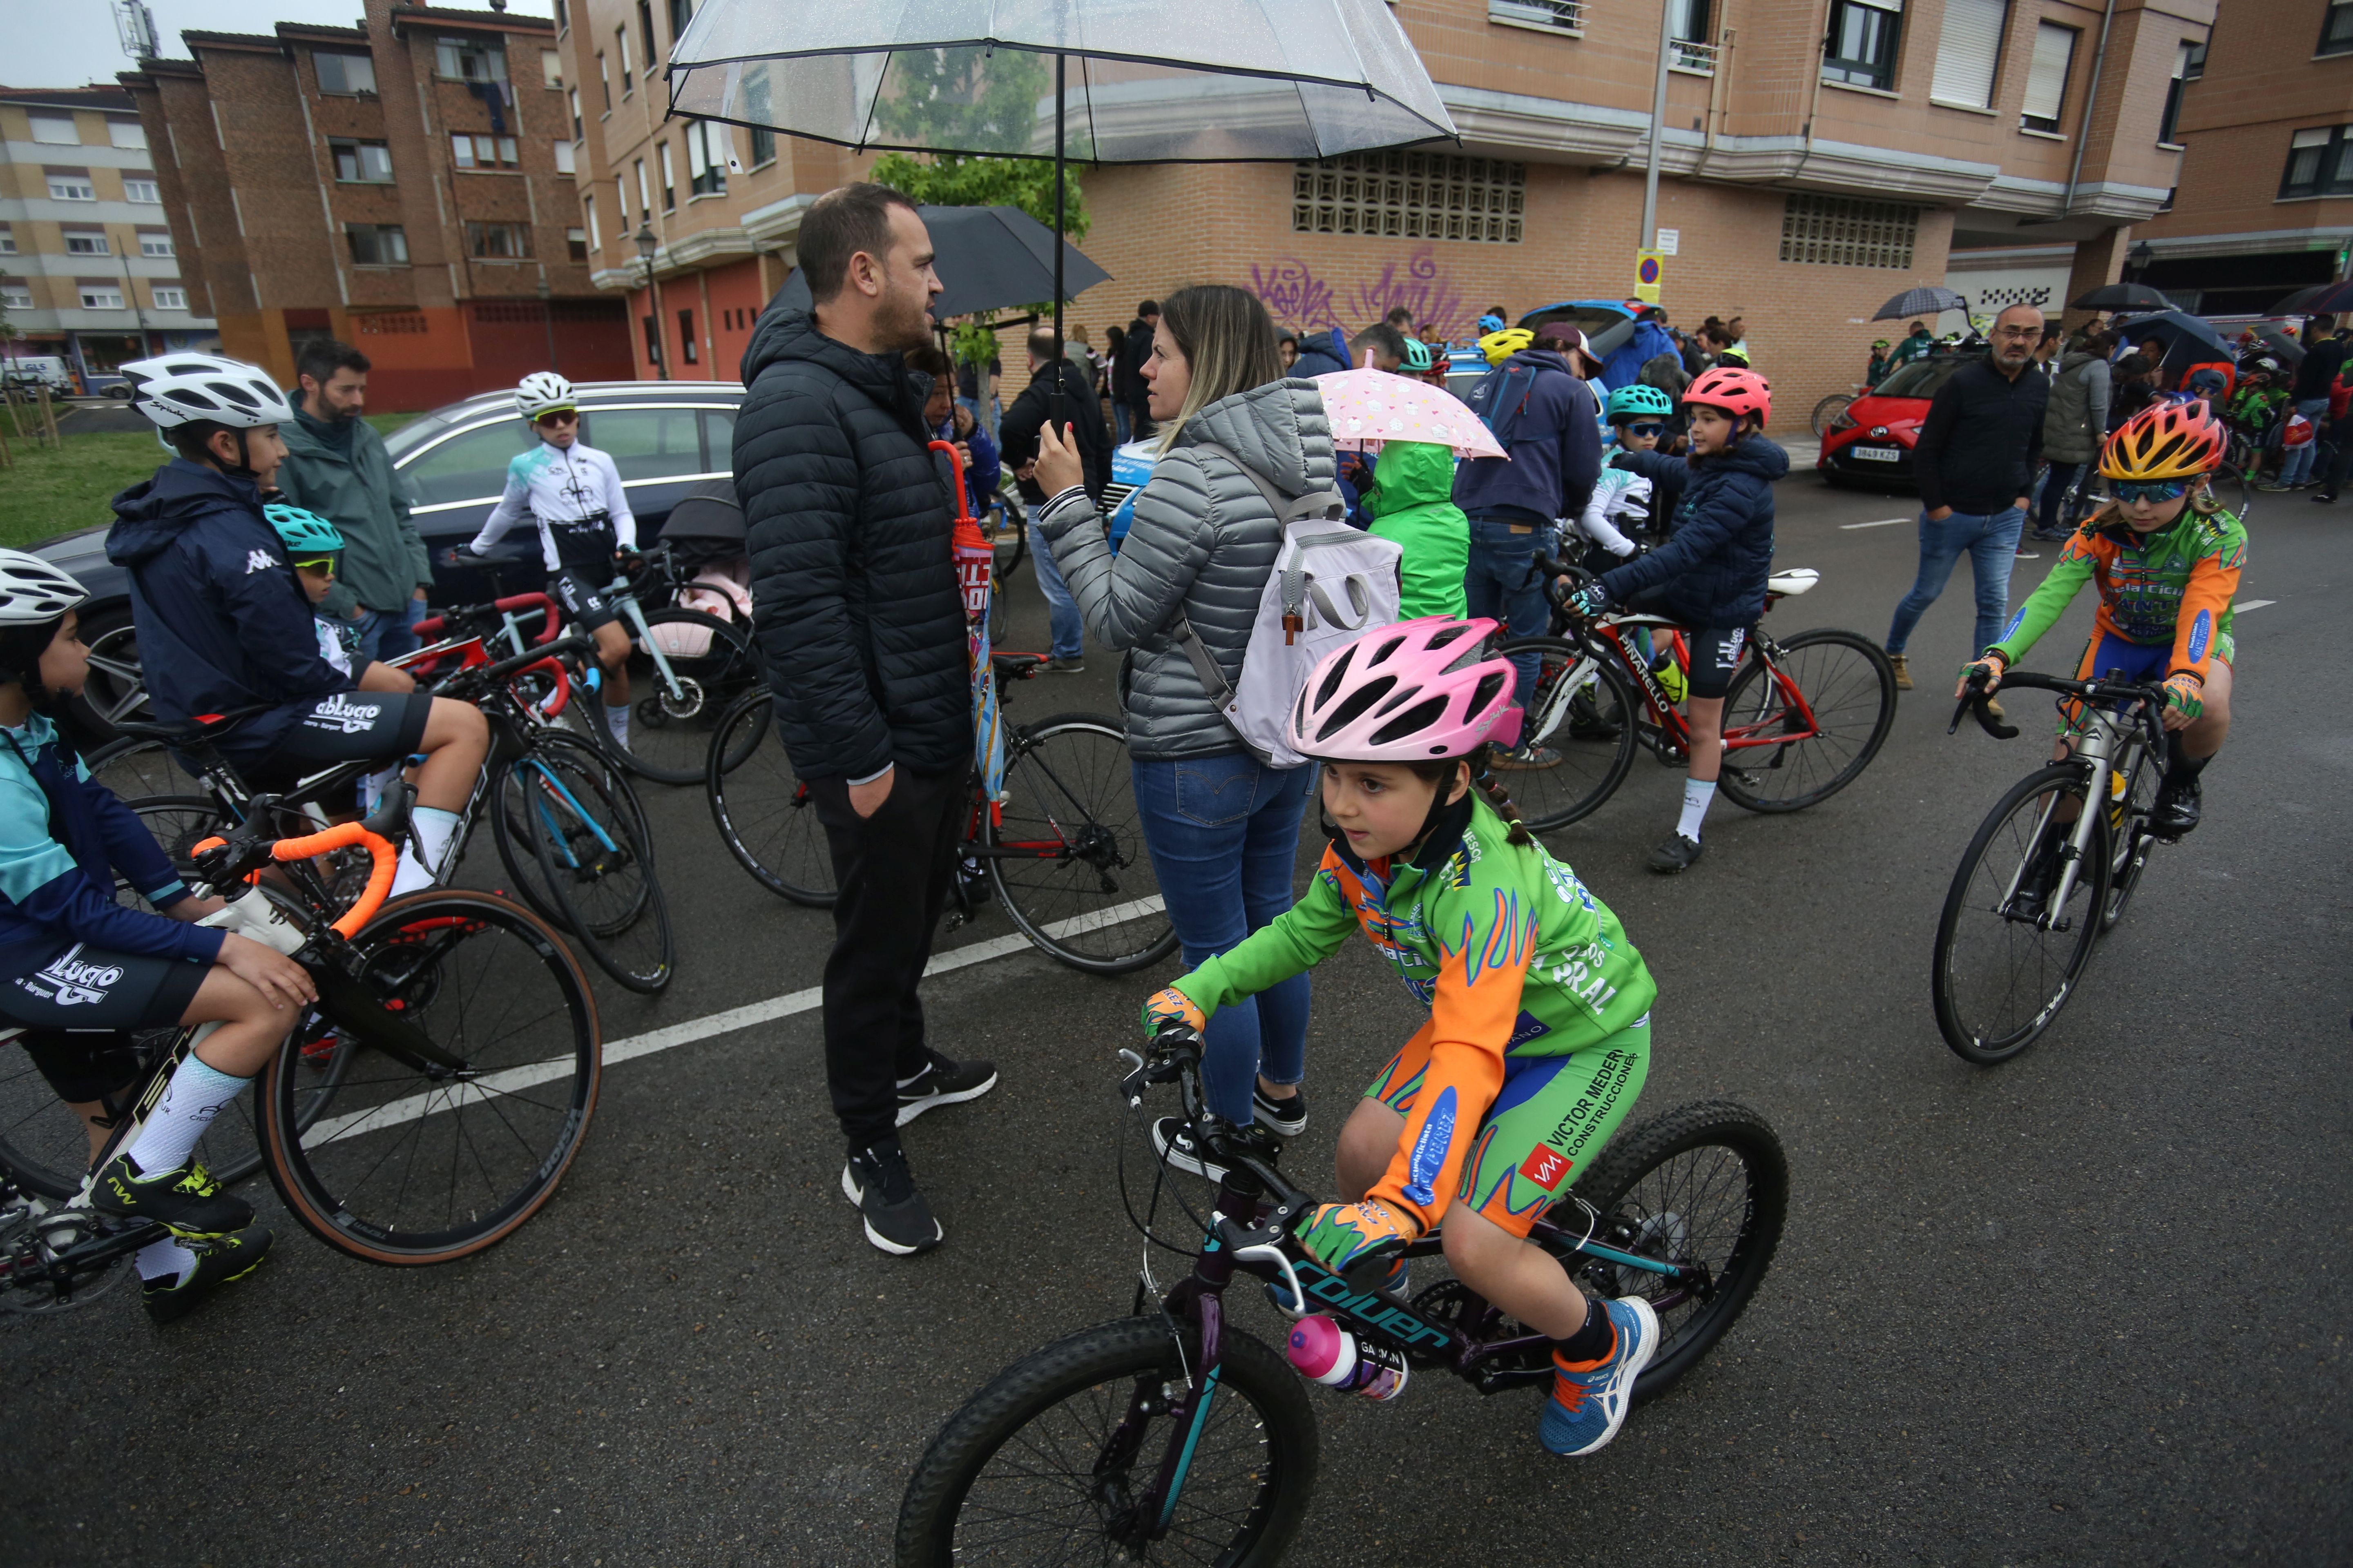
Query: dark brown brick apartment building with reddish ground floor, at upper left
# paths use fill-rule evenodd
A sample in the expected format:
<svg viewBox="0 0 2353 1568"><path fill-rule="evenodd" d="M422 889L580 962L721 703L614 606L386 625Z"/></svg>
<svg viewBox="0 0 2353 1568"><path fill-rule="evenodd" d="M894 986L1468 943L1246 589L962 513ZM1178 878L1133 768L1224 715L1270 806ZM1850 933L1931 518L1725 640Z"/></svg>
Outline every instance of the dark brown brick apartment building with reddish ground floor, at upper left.
<svg viewBox="0 0 2353 1568"><path fill-rule="evenodd" d="M193 61L120 80L224 353L292 383L294 348L339 336L388 409L551 362L633 374L588 277L551 21L365 0L351 28L181 38Z"/></svg>

